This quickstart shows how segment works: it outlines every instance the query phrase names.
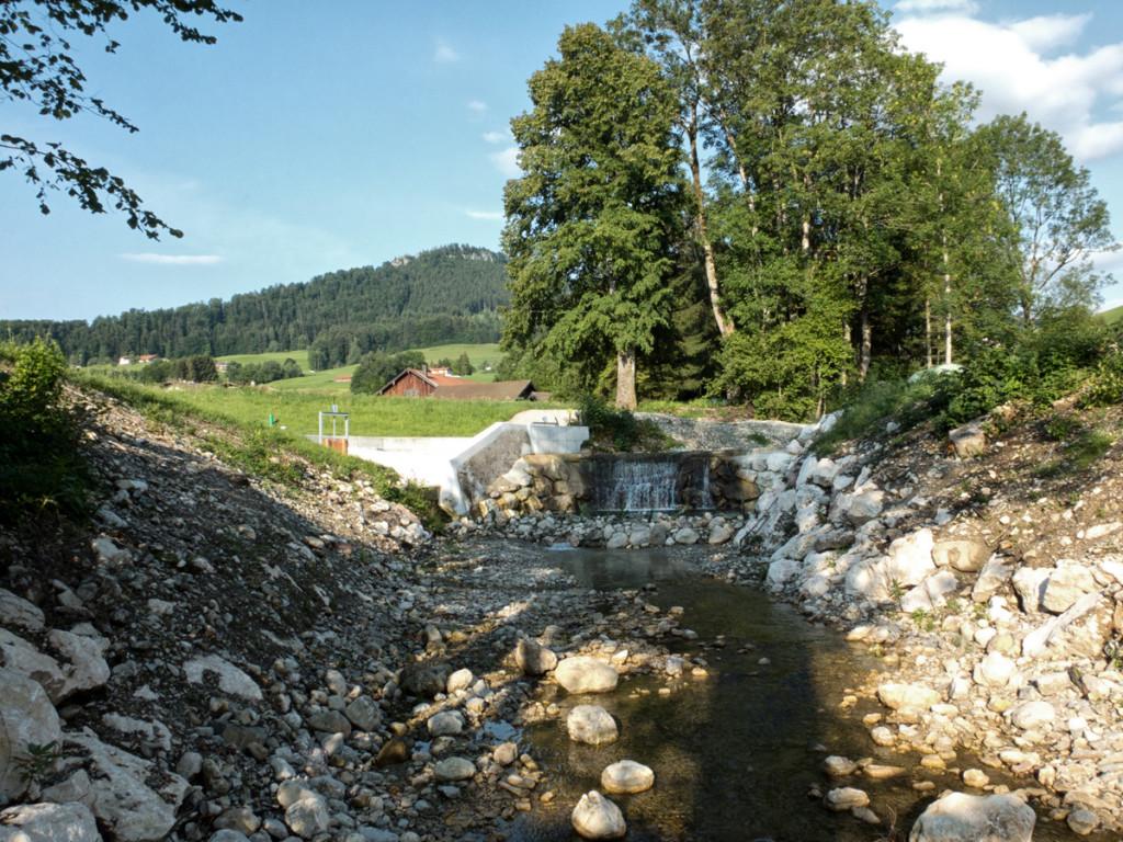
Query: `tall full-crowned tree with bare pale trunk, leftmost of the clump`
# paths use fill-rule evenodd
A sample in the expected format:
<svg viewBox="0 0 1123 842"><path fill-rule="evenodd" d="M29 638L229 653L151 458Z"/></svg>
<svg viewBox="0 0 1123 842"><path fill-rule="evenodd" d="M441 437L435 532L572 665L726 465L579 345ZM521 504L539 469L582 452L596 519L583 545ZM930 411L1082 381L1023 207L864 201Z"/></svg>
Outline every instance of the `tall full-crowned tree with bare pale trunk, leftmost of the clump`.
<svg viewBox="0 0 1123 842"><path fill-rule="evenodd" d="M558 52L511 121L524 175L504 192L503 344L541 342L590 372L614 357L617 405L634 408L638 361L672 303L677 103L654 62L592 24L566 28Z"/></svg>

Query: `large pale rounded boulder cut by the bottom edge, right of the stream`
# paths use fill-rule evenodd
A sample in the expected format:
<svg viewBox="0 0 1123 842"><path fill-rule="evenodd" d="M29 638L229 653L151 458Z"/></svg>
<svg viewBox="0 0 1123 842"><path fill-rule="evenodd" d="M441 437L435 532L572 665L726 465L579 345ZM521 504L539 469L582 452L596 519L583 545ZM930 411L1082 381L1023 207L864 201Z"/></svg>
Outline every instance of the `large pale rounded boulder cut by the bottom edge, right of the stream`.
<svg viewBox="0 0 1123 842"><path fill-rule="evenodd" d="M951 793L916 820L909 842L1032 842L1037 816L1013 795Z"/></svg>

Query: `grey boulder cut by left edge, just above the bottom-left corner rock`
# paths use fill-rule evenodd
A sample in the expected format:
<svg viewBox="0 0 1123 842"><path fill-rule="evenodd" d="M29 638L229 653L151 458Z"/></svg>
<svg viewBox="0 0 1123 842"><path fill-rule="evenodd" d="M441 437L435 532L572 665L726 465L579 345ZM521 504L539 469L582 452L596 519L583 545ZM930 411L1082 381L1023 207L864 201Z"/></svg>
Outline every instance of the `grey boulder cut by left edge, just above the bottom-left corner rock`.
<svg viewBox="0 0 1123 842"><path fill-rule="evenodd" d="M27 791L28 781L20 780L20 777L28 747L52 743L58 747L63 734L58 714L43 685L3 668L0 668L0 711L3 712L0 803L8 803Z"/></svg>

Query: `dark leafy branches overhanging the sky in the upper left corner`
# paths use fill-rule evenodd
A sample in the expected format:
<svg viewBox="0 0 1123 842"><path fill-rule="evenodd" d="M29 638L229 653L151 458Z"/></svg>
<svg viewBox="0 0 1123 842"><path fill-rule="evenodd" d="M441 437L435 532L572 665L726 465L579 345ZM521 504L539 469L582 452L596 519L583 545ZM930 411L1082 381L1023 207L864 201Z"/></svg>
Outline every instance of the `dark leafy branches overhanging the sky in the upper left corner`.
<svg viewBox="0 0 1123 842"><path fill-rule="evenodd" d="M130 11L161 15L185 42L213 44L191 22L191 16L218 22L241 20L214 0L3 0L0 2L0 102L25 101L44 117L65 120L92 113L136 131L128 118L86 93L86 77L74 58L70 39L79 35L104 37L106 51L120 46L110 37L116 21ZM36 187L39 210L48 213L47 191L62 191L84 209L101 213L112 205L125 213L130 228L157 239L162 231L183 234L141 207L140 196L104 167L88 163L58 143L43 143L0 134L0 171L21 170Z"/></svg>

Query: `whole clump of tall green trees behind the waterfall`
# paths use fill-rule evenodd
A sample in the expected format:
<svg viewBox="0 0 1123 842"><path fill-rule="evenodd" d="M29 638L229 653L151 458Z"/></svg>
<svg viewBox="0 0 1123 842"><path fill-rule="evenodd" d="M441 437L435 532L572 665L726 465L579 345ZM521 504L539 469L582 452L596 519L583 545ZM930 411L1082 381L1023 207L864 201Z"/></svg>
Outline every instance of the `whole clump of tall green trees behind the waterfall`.
<svg viewBox="0 0 1123 842"><path fill-rule="evenodd" d="M802 419L870 377L1074 347L1106 204L1056 132L976 125L940 70L873 2L633 0L567 28L511 123L500 376Z"/></svg>

